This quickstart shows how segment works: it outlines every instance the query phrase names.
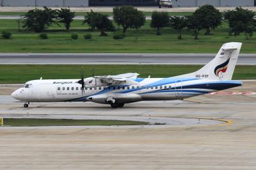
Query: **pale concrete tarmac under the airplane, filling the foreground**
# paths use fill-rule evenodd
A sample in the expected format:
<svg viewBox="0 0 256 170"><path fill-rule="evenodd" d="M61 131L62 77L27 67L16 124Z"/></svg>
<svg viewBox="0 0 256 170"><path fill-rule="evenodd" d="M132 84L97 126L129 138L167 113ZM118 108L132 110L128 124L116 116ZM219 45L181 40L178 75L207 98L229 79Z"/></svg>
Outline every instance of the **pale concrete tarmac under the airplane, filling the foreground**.
<svg viewBox="0 0 256 170"><path fill-rule="evenodd" d="M229 91L255 91L255 84ZM255 102L256 95L202 95L120 109L92 103L31 104L25 109L19 102L0 102L1 116L228 121L129 128L0 127L0 169L256 169Z"/></svg>

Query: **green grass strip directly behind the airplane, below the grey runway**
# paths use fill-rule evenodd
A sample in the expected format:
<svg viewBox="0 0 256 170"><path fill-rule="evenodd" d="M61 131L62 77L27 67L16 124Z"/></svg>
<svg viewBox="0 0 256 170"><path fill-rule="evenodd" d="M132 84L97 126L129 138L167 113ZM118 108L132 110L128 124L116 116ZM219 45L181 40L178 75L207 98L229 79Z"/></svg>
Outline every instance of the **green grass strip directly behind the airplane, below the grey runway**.
<svg viewBox="0 0 256 170"><path fill-rule="evenodd" d="M40 79L80 79L80 71L84 76L115 75L119 73L137 72L139 77L172 77L198 70L199 65L0 65L0 84L24 83ZM233 79L256 79L256 66L236 66Z"/></svg>

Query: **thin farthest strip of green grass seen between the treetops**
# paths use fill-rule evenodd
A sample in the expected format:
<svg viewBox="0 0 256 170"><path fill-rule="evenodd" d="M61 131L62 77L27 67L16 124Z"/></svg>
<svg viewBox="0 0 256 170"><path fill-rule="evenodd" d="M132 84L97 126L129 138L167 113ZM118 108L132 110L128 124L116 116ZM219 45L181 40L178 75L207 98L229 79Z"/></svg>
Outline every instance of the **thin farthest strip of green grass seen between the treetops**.
<svg viewBox="0 0 256 170"><path fill-rule="evenodd" d="M100 12L104 15L113 15L113 12ZM149 16L152 15L152 12L143 12L144 15ZM184 16L191 15L193 12L168 12L170 16ZM0 12L0 15L24 15L26 12ZM76 12L76 15L86 15L87 12Z"/></svg>

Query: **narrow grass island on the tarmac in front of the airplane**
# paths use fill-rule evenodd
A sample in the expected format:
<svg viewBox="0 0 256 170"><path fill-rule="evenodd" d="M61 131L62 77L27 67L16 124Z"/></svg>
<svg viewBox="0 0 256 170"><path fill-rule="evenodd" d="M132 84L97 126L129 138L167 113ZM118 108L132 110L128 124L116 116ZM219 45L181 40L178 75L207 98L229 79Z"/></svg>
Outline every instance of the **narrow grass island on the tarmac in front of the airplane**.
<svg viewBox="0 0 256 170"><path fill-rule="evenodd" d="M32 119L4 118L4 126L41 127L41 126L112 126L112 125L148 125L143 121L124 120L67 120L67 119Z"/></svg>

